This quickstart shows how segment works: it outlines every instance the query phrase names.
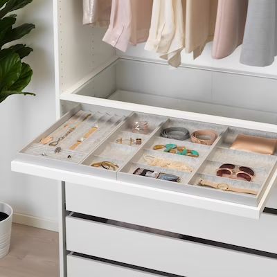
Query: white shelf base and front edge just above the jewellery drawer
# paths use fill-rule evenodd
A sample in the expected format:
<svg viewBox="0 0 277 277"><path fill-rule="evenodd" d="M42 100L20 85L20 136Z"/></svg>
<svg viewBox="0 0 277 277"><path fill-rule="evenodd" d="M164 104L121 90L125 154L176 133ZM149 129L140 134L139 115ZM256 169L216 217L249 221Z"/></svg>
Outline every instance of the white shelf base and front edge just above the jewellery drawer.
<svg viewBox="0 0 277 277"><path fill-rule="evenodd" d="M93 96L80 95L76 93L62 93L61 100L78 102L82 104L100 105L112 107L116 109L132 109L133 111L151 114L166 114L167 116L176 118L195 118L200 116L199 120L207 120L207 122L215 122L217 124L226 123L226 118L222 120L220 116L229 117L230 123L240 124L241 120L235 118L244 118L244 120L253 120L256 122L251 129L256 129L257 124L262 125L276 124L277 114L268 111L256 111L252 109L242 109L238 107L229 107L225 105L215 105L206 102L196 102L191 100L170 98L164 96L154 96L134 91L116 90L109 98L98 98ZM145 105L147 103L147 105ZM201 113L197 115L196 113ZM206 116L203 117L203 114ZM260 122L260 123L259 123ZM240 125L236 125L240 127ZM277 127L272 128L272 132L277 131Z"/></svg>

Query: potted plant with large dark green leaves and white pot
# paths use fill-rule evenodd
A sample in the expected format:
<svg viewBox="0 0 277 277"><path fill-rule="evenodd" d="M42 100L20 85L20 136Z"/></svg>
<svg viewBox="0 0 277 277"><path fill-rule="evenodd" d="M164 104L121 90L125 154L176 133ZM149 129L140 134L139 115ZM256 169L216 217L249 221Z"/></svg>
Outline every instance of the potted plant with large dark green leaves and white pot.
<svg viewBox="0 0 277 277"><path fill-rule="evenodd" d="M17 15L14 10L24 8L33 0L0 0L0 102L12 94L29 94L23 89L29 84L33 71L22 62L33 49L25 44L11 45L30 33L34 24L22 24L14 27ZM0 258L6 256L10 248L12 230L12 207L0 202Z"/></svg>

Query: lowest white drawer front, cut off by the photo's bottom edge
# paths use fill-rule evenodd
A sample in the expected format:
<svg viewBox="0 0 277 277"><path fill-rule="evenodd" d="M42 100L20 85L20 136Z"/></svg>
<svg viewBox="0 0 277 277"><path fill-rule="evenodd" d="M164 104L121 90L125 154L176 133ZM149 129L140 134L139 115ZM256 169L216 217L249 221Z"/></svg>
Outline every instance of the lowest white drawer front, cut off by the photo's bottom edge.
<svg viewBox="0 0 277 277"><path fill-rule="evenodd" d="M77 256L67 256L67 277L159 277L157 274L111 265Z"/></svg>

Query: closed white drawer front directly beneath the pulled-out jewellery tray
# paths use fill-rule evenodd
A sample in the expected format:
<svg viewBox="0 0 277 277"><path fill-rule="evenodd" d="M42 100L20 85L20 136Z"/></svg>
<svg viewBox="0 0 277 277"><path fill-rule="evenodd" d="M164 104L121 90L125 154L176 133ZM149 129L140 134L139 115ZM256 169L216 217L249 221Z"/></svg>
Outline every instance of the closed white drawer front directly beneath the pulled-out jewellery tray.
<svg viewBox="0 0 277 277"><path fill-rule="evenodd" d="M252 220L71 183L66 183L66 209L277 253L277 215Z"/></svg>

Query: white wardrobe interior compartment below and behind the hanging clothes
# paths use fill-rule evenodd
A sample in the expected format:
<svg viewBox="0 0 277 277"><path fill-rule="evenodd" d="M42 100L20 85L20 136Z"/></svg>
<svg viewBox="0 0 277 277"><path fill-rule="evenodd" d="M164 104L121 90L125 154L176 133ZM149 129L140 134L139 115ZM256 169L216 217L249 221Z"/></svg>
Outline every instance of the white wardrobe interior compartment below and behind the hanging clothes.
<svg viewBox="0 0 277 277"><path fill-rule="evenodd" d="M143 112L148 106L163 107L168 116L176 115L169 110L175 109L277 123L276 62L245 66L239 62L240 48L213 60L210 43L196 60L184 53L182 65L173 69L145 51L144 44L123 53L102 42L105 28L82 25L82 1L57 1L56 8L61 100Z"/></svg>

